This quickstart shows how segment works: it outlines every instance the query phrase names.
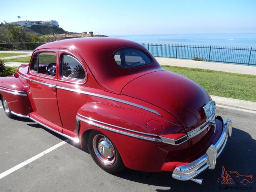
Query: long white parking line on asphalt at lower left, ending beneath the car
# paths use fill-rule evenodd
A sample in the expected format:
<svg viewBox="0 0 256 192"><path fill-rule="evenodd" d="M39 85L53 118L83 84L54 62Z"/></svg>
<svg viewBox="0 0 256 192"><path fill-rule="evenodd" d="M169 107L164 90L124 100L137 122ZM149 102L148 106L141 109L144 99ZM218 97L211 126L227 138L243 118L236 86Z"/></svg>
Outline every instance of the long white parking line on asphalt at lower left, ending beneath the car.
<svg viewBox="0 0 256 192"><path fill-rule="evenodd" d="M70 141L70 139L66 139L65 141L62 141L62 142L60 142L60 143L58 143L58 144L56 144L56 145L46 149L42 153L39 153L39 154L35 155L34 157L31 157L30 159L27 159L26 161L20 163L19 165L16 165L16 166L12 167L11 169L8 169L7 171L5 171L5 172L0 174L0 179L5 177L5 176L7 176L8 174L11 174L12 172L15 172L16 170L20 169L21 167L24 167L25 165L35 161L36 159L44 156L45 154L50 153L54 149L64 145L65 143L67 143L69 141Z"/></svg>

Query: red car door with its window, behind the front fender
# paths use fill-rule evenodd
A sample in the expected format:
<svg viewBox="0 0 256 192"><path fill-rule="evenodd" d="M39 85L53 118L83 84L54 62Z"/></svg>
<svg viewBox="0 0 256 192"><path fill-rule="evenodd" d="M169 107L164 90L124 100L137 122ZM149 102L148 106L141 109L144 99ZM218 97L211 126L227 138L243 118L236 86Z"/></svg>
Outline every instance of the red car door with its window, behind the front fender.
<svg viewBox="0 0 256 192"><path fill-rule="evenodd" d="M40 50L33 54L27 75L27 93L31 116L57 131L62 131L57 103L57 71L59 50Z"/></svg>

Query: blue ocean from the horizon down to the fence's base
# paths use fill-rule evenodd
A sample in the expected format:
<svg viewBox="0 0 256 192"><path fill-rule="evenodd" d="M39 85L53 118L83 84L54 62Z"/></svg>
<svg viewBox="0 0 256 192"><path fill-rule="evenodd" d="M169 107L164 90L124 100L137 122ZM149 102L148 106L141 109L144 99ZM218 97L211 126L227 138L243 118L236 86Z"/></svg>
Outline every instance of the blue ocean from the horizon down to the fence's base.
<svg viewBox="0 0 256 192"><path fill-rule="evenodd" d="M256 66L256 33L111 35L143 44L153 56Z"/></svg>

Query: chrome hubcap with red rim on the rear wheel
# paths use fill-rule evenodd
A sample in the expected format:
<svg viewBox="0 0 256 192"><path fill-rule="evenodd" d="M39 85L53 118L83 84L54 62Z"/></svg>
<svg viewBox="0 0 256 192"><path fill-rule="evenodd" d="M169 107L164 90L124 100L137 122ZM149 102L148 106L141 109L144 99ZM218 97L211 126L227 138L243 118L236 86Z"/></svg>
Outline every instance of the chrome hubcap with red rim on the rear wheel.
<svg viewBox="0 0 256 192"><path fill-rule="evenodd" d="M99 161L105 165L112 165L116 160L114 146L104 135L98 134L94 136L93 150Z"/></svg>

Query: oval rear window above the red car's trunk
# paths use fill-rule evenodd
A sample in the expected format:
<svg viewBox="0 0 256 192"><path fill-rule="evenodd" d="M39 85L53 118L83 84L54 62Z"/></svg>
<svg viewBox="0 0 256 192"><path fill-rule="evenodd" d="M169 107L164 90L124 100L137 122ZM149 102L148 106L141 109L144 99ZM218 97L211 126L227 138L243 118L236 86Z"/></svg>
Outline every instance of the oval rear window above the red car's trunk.
<svg viewBox="0 0 256 192"><path fill-rule="evenodd" d="M138 49L120 49L114 54L117 65L123 68L132 68L151 63L150 58Z"/></svg>

